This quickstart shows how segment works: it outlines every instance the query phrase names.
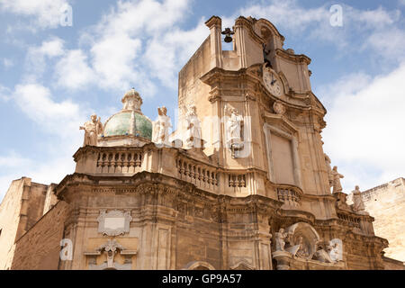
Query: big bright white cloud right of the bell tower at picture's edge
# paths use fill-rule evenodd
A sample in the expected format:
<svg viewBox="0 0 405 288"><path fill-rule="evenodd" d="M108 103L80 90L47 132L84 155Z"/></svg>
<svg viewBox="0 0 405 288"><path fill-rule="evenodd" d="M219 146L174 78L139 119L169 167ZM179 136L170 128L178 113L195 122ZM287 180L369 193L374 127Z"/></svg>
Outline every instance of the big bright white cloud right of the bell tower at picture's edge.
<svg viewBox="0 0 405 288"><path fill-rule="evenodd" d="M338 80L336 86L348 90L333 97L323 139L325 152L346 176L347 192L355 184L366 189L404 175L404 79L405 63L386 76Z"/></svg>

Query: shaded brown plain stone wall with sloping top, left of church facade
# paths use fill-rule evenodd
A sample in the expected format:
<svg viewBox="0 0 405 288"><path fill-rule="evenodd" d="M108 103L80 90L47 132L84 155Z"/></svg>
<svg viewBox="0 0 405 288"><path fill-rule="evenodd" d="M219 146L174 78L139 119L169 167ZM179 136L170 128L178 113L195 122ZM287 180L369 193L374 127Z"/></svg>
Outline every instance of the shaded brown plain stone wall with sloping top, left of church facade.
<svg viewBox="0 0 405 288"><path fill-rule="evenodd" d="M67 203L59 201L15 243L12 269L58 269L60 240L63 238Z"/></svg>

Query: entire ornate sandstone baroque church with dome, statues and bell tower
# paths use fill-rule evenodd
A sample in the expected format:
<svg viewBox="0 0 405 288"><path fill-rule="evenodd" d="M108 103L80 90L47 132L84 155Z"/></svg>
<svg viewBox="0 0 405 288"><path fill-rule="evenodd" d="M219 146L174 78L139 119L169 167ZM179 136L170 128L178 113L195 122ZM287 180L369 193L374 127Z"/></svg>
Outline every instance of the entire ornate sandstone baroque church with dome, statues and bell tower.
<svg viewBox="0 0 405 288"><path fill-rule="evenodd" d="M74 173L4 197L0 268L403 268L323 151L311 59L266 19L205 24L179 72L177 129L165 107L144 115L135 89L104 123L92 115Z"/></svg>

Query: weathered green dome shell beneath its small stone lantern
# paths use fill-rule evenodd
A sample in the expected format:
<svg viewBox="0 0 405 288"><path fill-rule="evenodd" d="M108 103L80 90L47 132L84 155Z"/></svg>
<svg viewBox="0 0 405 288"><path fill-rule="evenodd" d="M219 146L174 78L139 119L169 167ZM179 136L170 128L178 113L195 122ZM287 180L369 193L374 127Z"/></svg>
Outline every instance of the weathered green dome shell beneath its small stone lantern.
<svg viewBox="0 0 405 288"><path fill-rule="evenodd" d="M131 111L118 112L105 122L104 137L134 135L152 139L152 121L148 117L134 112L134 123L131 124ZM134 128L134 132L131 129Z"/></svg>

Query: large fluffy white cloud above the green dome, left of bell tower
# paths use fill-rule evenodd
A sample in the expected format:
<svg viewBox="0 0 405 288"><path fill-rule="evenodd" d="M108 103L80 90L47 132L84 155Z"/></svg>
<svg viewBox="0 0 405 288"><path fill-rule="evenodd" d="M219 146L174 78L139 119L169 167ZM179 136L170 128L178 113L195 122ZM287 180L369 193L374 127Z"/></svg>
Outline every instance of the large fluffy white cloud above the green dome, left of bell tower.
<svg viewBox="0 0 405 288"><path fill-rule="evenodd" d="M201 24L191 31L177 27L189 4L189 0L119 1L100 23L81 36L82 42L89 45L96 84L119 91L133 85L144 96L155 94L155 78L174 87L181 60L187 54L191 56L189 50L197 49L202 42L198 40ZM197 31L192 42L184 39Z"/></svg>

